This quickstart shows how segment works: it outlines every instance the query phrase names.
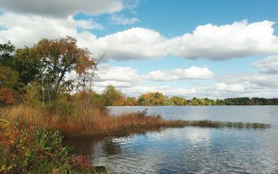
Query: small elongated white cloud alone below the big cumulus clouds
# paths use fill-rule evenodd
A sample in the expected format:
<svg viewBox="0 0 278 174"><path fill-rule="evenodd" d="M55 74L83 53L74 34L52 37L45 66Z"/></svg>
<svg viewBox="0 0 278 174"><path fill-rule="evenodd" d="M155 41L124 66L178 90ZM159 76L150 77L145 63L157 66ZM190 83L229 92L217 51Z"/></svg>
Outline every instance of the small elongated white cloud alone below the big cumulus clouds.
<svg viewBox="0 0 278 174"><path fill-rule="evenodd" d="M145 75L145 79L152 81L173 81L181 79L210 79L213 73L208 68L192 66L187 69L157 70Z"/></svg>

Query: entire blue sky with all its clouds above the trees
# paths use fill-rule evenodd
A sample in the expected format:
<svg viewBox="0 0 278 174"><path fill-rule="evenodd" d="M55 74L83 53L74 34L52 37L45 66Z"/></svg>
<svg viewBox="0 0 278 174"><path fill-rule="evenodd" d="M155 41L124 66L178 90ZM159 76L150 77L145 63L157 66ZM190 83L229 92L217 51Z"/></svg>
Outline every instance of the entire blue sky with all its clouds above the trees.
<svg viewBox="0 0 278 174"><path fill-rule="evenodd" d="M106 52L95 90L278 97L276 0L0 0L0 43L70 35Z"/></svg>

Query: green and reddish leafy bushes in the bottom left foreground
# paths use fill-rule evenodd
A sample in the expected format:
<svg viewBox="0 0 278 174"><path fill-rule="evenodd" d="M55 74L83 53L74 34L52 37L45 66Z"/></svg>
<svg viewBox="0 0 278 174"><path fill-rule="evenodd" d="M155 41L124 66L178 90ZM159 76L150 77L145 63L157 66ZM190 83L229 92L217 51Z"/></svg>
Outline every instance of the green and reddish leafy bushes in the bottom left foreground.
<svg viewBox="0 0 278 174"><path fill-rule="evenodd" d="M63 147L59 131L0 120L0 173L82 173L93 171ZM73 165L74 164L74 165Z"/></svg>

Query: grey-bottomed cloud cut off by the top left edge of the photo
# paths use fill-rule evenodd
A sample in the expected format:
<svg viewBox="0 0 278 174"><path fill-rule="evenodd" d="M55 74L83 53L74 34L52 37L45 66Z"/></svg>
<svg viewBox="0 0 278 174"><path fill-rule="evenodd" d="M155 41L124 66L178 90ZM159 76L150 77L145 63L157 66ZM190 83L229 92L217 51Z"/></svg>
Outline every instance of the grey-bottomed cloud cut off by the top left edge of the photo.
<svg viewBox="0 0 278 174"><path fill-rule="evenodd" d="M67 17L81 12L88 15L99 15L119 12L125 6L132 6L131 2L126 5L123 2L122 0L0 0L0 10L51 17Z"/></svg>

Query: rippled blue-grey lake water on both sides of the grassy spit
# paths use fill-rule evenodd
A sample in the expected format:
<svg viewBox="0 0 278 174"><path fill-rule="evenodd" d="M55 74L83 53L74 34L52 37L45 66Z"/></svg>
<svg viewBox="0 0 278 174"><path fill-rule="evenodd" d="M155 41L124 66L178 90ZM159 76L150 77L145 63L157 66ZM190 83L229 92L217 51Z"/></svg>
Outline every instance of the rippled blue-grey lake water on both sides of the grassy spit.
<svg viewBox="0 0 278 174"><path fill-rule="evenodd" d="M67 140L115 173L278 173L278 106L115 106L166 119L270 123L269 129L161 129L129 137Z"/></svg>

